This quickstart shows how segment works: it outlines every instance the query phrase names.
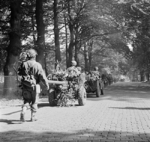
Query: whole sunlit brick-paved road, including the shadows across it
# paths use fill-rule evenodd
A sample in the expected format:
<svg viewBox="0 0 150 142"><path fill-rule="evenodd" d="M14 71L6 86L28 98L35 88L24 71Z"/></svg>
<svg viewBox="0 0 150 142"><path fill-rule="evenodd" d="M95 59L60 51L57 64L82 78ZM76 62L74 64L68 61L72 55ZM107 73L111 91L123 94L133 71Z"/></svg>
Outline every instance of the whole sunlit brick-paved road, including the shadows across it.
<svg viewBox="0 0 150 142"><path fill-rule="evenodd" d="M36 122L20 123L17 104L0 111L0 142L150 141L150 86L144 83L114 84L100 98L89 95L86 106L40 103Z"/></svg>

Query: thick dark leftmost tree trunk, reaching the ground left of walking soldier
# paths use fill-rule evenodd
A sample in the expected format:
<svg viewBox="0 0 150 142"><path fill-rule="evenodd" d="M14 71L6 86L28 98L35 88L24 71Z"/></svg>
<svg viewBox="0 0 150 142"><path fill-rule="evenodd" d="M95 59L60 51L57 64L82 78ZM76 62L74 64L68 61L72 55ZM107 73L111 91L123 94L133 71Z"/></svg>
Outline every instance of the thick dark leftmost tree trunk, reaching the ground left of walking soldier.
<svg viewBox="0 0 150 142"><path fill-rule="evenodd" d="M10 26L11 31L9 34L10 43L7 47L7 57L6 63L4 65L4 87L3 95L12 95L13 89L16 89L16 73L14 70L14 64L18 61L18 55L21 52L21 34L20 34L20 25L21 25L21 6L22 0L13 0L10 2L11 9L11 19ZM16 82L16 83L15 83Z"/></svg>

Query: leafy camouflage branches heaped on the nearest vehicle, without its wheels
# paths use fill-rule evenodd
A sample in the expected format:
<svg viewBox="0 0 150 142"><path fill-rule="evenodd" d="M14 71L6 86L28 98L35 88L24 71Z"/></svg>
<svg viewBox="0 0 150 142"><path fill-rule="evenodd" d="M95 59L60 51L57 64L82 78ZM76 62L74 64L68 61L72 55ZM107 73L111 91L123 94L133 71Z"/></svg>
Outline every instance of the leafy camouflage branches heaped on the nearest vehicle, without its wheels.
<svg viewBox="0 0 150 142"><path fill-rule="evenodd" d="M80 76L78 68L68 68L67 70L56 70L48 75L49 80L67 81L67 88L60 88L60 85L53 86L58 92L56 102L58 106L74 105L77 99L78 77ZM60 91L60 92L59 92Z"/></svg>

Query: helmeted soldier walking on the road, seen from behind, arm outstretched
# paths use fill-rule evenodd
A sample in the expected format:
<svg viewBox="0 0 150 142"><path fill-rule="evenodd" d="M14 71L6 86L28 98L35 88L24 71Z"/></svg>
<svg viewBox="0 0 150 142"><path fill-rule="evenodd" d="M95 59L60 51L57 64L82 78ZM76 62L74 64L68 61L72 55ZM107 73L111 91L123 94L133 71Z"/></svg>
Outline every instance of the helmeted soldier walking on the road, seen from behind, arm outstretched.
<svg viewBox="0 0 150 142"><path fill-rule="evenodd" d="M28 104L31 107L31 121L36 121L36 112L38 109L38 97L40 93L39 83L42 81L47 90L49 89L48 80L40 63L36 62L37 52L34 49L27 51L28 60L21 64L18 70L18 75L22 77L22 95L23 105L20 114L20 120L25 121L25 112Z"/></svg>

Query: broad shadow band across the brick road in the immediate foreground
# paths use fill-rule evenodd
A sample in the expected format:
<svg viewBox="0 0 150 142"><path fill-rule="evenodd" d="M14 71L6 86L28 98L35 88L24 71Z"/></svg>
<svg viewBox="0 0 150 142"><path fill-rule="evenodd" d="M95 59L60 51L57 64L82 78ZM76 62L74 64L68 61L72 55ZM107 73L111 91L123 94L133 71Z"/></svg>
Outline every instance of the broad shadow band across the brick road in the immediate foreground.
<svg viewBox="0 0 150 142"><path fill-rule="evenodd" d="M150 140L150 134L145 133L131 133L131 132L117 132L117 131L93 131L89 129L79 130L74 133L65 132L33 132L33 131L7 131L0 133L2 142L74 142L74 141L144 141Z"/></svg>

